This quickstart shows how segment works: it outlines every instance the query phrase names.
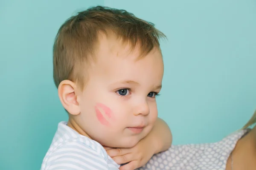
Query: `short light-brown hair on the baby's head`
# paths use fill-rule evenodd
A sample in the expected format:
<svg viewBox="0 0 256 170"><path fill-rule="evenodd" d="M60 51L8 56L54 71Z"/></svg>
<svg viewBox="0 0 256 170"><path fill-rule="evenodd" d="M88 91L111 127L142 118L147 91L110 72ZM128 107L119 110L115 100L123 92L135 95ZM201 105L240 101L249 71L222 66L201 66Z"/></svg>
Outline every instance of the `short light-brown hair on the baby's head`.
<svg viewBox="0 0 256 170"><path fill-rule="evenodd" d="M70 17L59 28L53 45L53 78L56 87L69 79L84 87L84 64L93 59L99 33L113 32L131 49L140 45L141 56L159 47L159 39L166 37L153 23L141 20L125 10L96 6ZM138 43L140 42L140 43Z"/></svg>

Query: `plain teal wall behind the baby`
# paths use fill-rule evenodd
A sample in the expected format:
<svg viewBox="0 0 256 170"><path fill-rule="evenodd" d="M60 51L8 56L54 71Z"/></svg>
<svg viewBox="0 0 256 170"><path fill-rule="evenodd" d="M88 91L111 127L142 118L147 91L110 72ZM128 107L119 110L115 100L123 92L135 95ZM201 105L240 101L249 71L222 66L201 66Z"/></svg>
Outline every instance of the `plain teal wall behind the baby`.
<svg viewBox="0 0 256 170"><path fill-rule="evenodd" d="M40 169L67 120L52 79L52 44L71 15L124 8L155 23L165 62L159 116L174 144L216 142L256 108L255 0L1 0L0 170Z"/></svg>

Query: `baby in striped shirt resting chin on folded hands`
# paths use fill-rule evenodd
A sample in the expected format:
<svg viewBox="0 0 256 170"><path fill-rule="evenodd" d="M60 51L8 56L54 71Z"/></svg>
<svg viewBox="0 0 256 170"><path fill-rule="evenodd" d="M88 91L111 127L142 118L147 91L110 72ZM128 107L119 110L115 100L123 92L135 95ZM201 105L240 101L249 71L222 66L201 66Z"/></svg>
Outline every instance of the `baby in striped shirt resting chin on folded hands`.
<svg viewBox="0 0 256 170"><path fill-rule="evenodd" d="M61 26L53 47L53 74L69 120L58 124L41 170L116 170L123 163L128 164L120 169L135 169L170 147L172 135L157 118L156 103L163 37L152 23L101 6L81 11ZM103 146L131 150L120 161ZM142 154L132 150L142 146L147 146Z"/></svg>

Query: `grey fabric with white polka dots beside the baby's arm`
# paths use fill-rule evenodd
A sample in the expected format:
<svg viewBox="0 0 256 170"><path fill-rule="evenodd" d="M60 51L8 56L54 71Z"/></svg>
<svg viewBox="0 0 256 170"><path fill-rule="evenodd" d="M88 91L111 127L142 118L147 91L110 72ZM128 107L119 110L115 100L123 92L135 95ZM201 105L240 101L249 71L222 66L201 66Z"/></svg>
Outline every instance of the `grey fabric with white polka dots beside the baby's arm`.
<svg viewBox="0 0 256 170"><path fill-rule="evenodd" d="M240 130L216 143L173 145L137 170L225 170L231 151L246 132Z"/></svg>

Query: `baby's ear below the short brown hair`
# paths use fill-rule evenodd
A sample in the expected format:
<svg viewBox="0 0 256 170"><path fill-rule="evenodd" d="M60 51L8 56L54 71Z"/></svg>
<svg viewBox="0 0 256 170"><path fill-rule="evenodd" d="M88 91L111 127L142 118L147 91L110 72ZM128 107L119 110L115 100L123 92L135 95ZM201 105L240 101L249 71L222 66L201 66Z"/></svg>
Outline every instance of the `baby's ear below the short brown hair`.
<svg viewBox="0 0 256 170"><path fill-rule="evenodd" d="M58 96L63 107L72 115L80 113L77 102L76 84L70 80L63 80L58 86Z"/></svg>

